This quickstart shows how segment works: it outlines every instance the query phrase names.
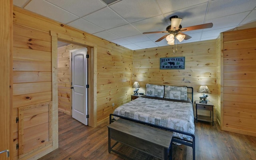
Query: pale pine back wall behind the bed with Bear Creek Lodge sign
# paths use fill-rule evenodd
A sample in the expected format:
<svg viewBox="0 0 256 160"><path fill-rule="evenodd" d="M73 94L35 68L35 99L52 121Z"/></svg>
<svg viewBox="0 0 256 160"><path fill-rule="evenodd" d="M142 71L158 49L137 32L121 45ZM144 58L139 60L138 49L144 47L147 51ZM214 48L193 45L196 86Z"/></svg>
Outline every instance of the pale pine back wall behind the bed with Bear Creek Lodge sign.
<svg viewBox="0 0 256 160"><path fill-rule="evenodd" d="M202 96L197 90L200 85L207 85L211 91L208 100L214 104L216 120L217 85L216 85L216 40L178 44L178 51L173 53L173 46L148 48L134 51L134 81L138 81L139 92L145 93L146 83L190 86L194 88L194 100ZM185 57L184 70L160 70L160 58ZM199 111L199 110L198 110ZM198 114L210 116L209 112Z"/></svg>

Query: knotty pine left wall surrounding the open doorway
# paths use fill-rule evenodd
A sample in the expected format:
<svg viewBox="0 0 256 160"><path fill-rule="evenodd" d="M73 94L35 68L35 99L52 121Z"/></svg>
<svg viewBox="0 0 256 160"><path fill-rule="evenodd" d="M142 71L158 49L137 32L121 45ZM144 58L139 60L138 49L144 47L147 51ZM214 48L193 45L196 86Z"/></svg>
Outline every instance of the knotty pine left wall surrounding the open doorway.
<svg viewBox="0 0 256 160"><path fill-rule="evenodd" d="M13 23L14 159L36 159L58 147L58 40L88 47L92 53L89 63L90 126L108 121L116 107L130 101L132 50L16 6ZM19 120L20 124L16 124L17 115L24 118ZM29 123L30 120L34 120L33 123ZM48 130L40 134L36 128L47 129L47 124ZM23 133L21 140L18 135ZM28 136L31 134L32 137ZM34 139L36 136L40 139ZM22 150L17 151L18 141Z"/></svg>

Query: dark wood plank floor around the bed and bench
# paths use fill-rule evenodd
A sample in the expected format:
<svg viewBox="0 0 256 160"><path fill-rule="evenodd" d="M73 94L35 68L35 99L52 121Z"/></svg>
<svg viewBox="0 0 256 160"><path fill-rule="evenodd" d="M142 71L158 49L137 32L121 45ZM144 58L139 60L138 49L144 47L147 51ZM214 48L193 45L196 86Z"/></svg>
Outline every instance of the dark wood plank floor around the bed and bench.
<svg viewBox="0 0 256 160"><path fill-rule="evenodd" d="M59 148L39 160L125 160L108 153L108 124L84 126L59 112ZM196 125L196 160L255 160L256 137L220 130L207 122ZM192 160L192 148L173 145L173 160Z"/></svg>

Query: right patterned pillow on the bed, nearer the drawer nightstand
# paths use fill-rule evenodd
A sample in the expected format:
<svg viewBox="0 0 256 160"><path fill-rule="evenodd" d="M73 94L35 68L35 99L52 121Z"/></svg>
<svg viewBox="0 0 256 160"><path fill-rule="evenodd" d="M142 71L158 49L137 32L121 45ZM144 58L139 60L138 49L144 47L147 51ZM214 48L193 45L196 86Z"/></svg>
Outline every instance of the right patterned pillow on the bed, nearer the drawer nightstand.
<svg viewBox="0 0 256 160"><path fill-rule="evenodd" d="M164 86L164 98L173 100L187 100L187 87Z"/></svg>

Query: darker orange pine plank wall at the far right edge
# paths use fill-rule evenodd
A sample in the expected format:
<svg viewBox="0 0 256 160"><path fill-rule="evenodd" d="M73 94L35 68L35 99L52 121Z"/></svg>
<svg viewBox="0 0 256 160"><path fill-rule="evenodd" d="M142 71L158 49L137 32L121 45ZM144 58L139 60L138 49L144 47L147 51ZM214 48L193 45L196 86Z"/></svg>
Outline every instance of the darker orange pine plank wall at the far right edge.
<svg viewBox="0 0 256 160"><path fill-rule="evenodd" d="M223 33L222 129L256 136L256 28Z"/></svg>

